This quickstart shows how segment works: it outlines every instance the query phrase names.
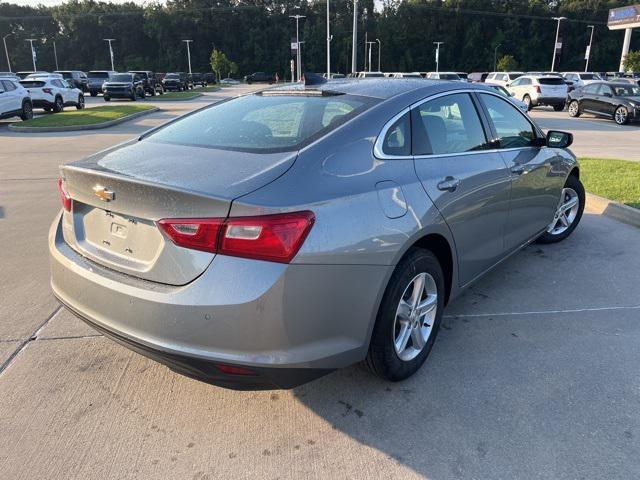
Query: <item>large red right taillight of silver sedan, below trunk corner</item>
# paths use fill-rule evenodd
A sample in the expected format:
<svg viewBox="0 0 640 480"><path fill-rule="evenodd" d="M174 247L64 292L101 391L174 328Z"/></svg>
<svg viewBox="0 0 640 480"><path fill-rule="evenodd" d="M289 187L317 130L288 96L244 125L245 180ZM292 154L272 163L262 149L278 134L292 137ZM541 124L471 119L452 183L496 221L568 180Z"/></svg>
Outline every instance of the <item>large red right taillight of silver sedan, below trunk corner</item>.
<svg viewBox="0 0 640 480"><path fill-rule="evenodd" d="M164 219L158 225L181 247L289 263L313 226L312 212L258 217Z"/></svg>

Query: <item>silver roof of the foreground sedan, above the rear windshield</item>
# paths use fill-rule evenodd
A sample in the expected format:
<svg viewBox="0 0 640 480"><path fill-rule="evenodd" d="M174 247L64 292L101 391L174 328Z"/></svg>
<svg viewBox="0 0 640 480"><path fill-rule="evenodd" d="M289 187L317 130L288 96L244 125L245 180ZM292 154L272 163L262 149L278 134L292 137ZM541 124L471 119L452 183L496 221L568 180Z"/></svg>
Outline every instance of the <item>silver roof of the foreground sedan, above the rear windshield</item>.
<svg viewBox="0 0 640 480"><path fill-rule="evenodd" d="M460 83L446 80L380 77L367 80L355 78L329 80L317 85L285 84L271 87L265 91L278 92L284 95L289 92L292 95L304 94L304 92L326 92L327 94L358 95L386 100L420 89L423 89L425 94L428 95L430 93L429 90L433 90L433 93L436 93L446 90L459 90L460 88L462 88ZM471 83L465 84L464 88L482 89L481 85L476 86ZM486 90L486 88L484 89Z"/></svg>

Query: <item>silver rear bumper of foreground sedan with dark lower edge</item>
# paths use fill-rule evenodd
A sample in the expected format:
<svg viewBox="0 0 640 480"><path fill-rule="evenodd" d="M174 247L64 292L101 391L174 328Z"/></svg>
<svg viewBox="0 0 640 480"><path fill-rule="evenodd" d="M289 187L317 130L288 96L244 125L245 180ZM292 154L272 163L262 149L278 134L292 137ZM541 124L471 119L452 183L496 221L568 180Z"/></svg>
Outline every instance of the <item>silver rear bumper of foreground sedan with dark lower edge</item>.
<svg viewBox="0 0 640 480"><path fill-rule="evenodd" d="M49 235L54 294L119 343L226 388L292 388L364 358L391 266L282 265L218 255L191 283L135 279ZM227 375L216 364L255 375Z"/></svg>

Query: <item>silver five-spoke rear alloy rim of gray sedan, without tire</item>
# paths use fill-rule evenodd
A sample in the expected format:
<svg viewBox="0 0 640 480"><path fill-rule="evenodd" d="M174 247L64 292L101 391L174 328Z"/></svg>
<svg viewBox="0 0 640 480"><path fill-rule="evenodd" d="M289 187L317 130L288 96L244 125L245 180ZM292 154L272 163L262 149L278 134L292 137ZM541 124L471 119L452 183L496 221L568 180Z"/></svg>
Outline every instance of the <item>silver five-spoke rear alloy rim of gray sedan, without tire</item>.
<svg viewBox="0 0 640 480"><path fill-rule="evenodd" d="M426 272L416 275L405 288L393 325L393 344L400 360L408 362L424 349L438 310L438 289Z"/></svg>

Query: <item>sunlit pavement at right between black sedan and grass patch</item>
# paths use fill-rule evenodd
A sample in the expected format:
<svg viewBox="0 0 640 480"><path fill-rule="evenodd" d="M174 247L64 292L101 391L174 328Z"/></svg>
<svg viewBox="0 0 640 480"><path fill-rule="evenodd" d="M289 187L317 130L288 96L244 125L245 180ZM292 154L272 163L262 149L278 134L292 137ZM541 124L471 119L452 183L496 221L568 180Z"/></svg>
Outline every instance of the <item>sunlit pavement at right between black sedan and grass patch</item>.
<svg viewBox="0 0 640 480"><path fill-rule="evenodd" d="M567 112L554 112L549 108L535 108L531 116L544 129L573 133L571 149L579 157L640 161L640 124L620 126L588 114L571 118Z"/></svg>

